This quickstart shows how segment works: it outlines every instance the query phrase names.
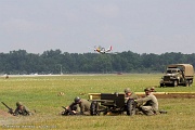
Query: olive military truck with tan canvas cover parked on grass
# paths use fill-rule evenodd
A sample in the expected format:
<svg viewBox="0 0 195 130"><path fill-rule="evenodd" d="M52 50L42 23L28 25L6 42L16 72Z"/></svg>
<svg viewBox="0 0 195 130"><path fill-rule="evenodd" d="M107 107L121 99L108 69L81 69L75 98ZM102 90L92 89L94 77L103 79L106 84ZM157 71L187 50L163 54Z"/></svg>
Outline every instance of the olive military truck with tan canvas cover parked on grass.
<svg viewBox="0 0 195 130"><path fill-rule="evenodd" d="M167 72L160 80L160 87L165 86L184 86L190 87L193 83L194 67L191 64L171 64L167 66Z"/></svg>

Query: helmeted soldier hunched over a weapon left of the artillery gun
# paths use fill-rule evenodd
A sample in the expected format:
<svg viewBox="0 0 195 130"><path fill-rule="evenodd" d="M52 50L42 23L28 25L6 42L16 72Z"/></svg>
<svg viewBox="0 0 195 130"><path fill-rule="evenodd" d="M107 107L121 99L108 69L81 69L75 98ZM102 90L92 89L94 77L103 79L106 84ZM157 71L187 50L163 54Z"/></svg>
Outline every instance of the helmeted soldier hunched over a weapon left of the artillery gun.
<svg viewBox="0 0 195 130"><path fill-rule="evenodd" d="M90 105L88 100L76 96L74 102L65 107L62 115L90 115Z"/></svg>

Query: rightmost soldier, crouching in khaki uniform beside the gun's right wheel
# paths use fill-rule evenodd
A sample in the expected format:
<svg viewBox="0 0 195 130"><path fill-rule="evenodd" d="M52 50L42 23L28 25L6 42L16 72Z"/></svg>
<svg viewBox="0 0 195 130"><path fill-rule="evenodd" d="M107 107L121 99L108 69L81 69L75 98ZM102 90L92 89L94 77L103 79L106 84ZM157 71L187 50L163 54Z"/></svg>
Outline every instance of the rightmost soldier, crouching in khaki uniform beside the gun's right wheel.
<svg viewBox="0 0 195 130"><path fill-rule="evenodd" d="M143 112L143 114L151 116L156 115L158 112L158 100L156 96L151 92L151 89L146 88L145 91L145 98L135 100L136 103L143 104L140 106L140 110Z"/></svg>

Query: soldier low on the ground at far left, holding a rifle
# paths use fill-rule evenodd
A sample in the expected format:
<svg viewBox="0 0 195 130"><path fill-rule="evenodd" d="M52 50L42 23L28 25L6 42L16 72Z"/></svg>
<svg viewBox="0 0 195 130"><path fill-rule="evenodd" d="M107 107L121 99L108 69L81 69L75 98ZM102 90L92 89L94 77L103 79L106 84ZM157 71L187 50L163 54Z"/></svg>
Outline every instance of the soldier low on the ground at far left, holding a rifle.
<svg viewBox="0 0 195 130"><path fill-rule="evenodd" d="M16 108L13 113L14 116L23 115L23 116L29 116L31 115L30 110L22 104L22 102L16 102Z"/></svg>

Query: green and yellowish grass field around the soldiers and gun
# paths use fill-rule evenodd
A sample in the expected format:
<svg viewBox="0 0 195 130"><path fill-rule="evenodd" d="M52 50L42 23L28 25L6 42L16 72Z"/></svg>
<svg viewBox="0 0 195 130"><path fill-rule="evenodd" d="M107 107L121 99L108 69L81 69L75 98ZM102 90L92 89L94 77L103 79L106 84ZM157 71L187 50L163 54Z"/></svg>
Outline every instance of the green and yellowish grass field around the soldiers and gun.
<svg viewBox="0 0 195 130"><path fill-rule="evenodd" d="M193 87L159 88L162 74L131 75L70 75L0 78L0 100L15 108L17 101L23 102L36 114L29 117L0 116L0 129L94 129L94 130L194 130L195 99L158 99L159 109L168 114L157 116L60 116L77 95L89 99L88 93L122 92L131 88L142 92L155 86L158 92L195 92ZM63 92L63 96L57 96ZM0 105L0 109L8 109Z"/></svg>

